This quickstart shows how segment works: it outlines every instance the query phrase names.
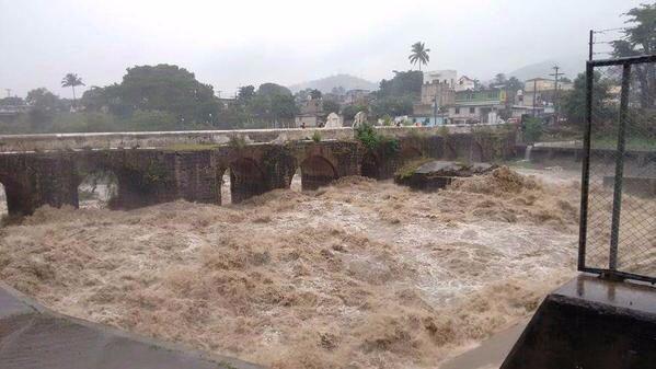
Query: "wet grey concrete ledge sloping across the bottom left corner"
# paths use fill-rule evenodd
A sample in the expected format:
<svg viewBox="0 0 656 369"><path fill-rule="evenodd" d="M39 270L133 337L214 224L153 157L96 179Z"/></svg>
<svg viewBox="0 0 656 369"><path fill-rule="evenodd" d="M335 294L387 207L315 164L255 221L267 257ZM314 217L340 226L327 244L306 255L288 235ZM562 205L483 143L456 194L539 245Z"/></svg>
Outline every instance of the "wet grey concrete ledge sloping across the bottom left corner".
<svg viewBox="0 0 656 369"><path fill-rule="evenodd" d="M55 313L0 282L2 369L264 369Z"/></svg>

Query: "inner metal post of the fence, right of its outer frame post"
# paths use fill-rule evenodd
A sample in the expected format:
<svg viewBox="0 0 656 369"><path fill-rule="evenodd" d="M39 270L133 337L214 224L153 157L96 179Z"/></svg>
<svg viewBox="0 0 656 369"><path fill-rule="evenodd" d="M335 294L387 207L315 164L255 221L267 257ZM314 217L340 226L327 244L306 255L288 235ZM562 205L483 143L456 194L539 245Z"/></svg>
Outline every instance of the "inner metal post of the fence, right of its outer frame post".
<svg viewBox="0 0 656 369"><path fill-rule="evenodd" d="M618 269L618 243L620 240L620 218L622 212L622 178L624 176L624 151L626 143L626 120L629 118L629 89L631 88L631 64L622 69L622 94L620 100L620 122L618 127L618 153L615 158L615 178L612 201L612 223L610 230L610 255L608 268Z"/></svg>

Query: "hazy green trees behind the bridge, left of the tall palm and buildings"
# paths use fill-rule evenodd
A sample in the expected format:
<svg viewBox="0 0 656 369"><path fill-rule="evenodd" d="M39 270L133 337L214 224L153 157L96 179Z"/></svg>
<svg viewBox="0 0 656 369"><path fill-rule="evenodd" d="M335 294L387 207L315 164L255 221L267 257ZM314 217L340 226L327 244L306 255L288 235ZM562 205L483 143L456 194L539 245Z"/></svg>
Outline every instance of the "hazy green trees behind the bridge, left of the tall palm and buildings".
<svg viewBox="0 0 656 369"><path fill-rule="evenodd" d="M421 91L419 71L395 72L381 81L370 103L349 105L324 96L323 112L347 120L359 111L372 119L407 115ZM24 100L1 99L0 106L22 106L23 112L0 118L0 134L289 127L307 99L322 99L322 93L303 90L294 95L283 85L263 83L240 88L234 99L219 99L211 85L184 68L138 66L128 68L120 83L91 87L78 101L45 88L30 91Z"/></svg>

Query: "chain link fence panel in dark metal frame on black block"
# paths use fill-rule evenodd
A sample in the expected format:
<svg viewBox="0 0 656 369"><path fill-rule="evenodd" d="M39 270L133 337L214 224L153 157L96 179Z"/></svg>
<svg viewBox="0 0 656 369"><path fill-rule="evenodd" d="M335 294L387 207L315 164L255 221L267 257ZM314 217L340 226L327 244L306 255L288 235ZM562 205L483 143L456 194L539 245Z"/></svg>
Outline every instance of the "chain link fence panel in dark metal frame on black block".
<svg viewBox="0 0 656 369"><path fill-rule="evenodd" d="M579 269L656 282L656 56L589 61Z"/></svg>

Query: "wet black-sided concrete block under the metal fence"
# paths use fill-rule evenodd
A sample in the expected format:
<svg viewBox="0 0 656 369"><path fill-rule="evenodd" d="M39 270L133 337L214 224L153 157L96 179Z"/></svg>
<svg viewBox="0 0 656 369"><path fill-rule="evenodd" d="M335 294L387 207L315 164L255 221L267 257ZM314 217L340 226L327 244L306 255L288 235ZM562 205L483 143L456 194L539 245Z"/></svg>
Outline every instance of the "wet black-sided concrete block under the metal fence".
<svg viewBox="0 0 656 369"><path fill-rule="evenodd" d="M643 369L656 362L656 288L580 275L544 299L502 369Z"/></svg>

